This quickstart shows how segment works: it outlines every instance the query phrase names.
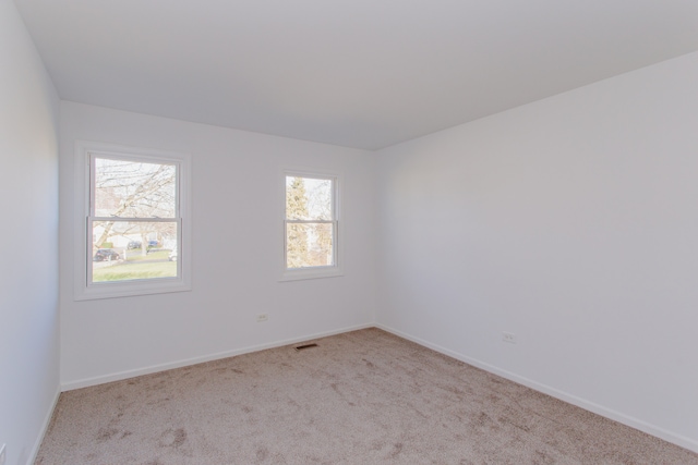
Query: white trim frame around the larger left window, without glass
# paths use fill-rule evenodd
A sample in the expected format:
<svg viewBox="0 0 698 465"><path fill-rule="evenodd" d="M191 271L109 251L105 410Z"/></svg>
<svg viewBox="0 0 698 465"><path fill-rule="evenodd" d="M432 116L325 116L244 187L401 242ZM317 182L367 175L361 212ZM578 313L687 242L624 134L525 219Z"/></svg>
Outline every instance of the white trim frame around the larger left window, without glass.
<svg viewBox="0 0 698 465"><path fill-rule="evenodd" d="M179 213L181 219L178 249L178 278L128 282L91 283L92 233L87 230L91 201L91 155L110 158L139 158L179 166ZM189 154L77 140L75 143L75 191L73 234L73 297L75 301L125 297L191 291L191 156ZM88 261L89 260L89 261Z"/></svg>

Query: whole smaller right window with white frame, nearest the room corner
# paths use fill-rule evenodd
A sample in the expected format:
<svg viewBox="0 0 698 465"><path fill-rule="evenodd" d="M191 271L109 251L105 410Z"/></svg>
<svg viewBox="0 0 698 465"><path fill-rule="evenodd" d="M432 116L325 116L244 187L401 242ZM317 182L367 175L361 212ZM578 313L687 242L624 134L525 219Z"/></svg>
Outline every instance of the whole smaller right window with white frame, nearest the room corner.
<svg viewBox="0 0 698 465"><path fill-rule="evenodd" d="M338 276L337 176L286 172L284 279Z"/></svg>

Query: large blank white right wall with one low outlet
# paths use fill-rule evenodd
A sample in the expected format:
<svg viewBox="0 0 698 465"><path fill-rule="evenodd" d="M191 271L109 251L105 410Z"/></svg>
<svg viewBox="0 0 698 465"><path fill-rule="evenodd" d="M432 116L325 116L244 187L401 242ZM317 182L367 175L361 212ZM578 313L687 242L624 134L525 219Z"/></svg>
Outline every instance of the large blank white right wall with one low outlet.
<svg viewBox="0 0 698 465"><path fill-rule="evenodd" d="M698 451L696 83L693 53L380 151L377 321Z"/></svg>

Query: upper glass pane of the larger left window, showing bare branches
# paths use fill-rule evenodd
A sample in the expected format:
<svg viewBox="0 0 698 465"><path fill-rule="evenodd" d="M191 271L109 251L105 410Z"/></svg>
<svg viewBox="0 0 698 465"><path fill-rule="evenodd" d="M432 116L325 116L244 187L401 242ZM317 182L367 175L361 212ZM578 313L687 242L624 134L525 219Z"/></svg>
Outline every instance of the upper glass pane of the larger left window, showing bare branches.
<svg viewBox="0 0 698 465"><path fill-rule="evenodd" d="M174 218L177 167L95 159L95 216Z"/></svg>

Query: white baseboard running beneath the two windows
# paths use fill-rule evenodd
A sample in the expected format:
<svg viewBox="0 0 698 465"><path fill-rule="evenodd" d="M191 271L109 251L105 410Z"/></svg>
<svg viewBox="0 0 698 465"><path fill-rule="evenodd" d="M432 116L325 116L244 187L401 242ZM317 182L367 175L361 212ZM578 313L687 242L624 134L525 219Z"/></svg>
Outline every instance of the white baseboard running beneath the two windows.
<svg viewBox="0 0 698 465"><path fill-rule="evenodd" d="M220 358L233 357L236 355L249 354L251 352L264 351L266 348L280 347L284 345L296 344L298 342L304 342L312 339L326 338L328 335L341 334L344 332L356 331L365 328L374 328L375 325L358 325L353 327L342 328L333 331L326 331L322 333L308 334L299 338L287 339L282 341L275 341L266 344L252 345L249 347L236 348L232 351L219 352L217 354L204 355L202 357L186 358L179 362L171 362L161 365L153 365L149 367L139 368L134 370L120 371L112 375L98 376L94 378L85 378L76 381L69 381L61 384L62 391L72 391L74 389L88 388L91 386L104 384L106 382L121 381L123 379L135 378L137 376L151 375L154 372L170 370L174 368L186 367L190 365L202 364L205 362L218 360Z"/></svg>

